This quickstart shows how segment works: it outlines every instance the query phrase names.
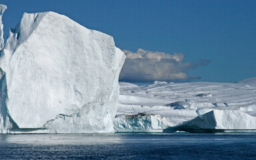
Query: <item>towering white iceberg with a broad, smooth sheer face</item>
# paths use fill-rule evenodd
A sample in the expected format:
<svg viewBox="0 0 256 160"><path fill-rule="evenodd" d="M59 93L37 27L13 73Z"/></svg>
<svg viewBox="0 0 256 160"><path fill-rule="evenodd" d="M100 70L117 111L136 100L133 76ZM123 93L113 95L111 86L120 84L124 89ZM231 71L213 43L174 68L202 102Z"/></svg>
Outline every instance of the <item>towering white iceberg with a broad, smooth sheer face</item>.
<svg viewBox="0 0 256 160"><path fill-rule="evenodd" d="M0 129L113 132L124 61L109 35L54 12L24 13L0 57Z"/></svg>

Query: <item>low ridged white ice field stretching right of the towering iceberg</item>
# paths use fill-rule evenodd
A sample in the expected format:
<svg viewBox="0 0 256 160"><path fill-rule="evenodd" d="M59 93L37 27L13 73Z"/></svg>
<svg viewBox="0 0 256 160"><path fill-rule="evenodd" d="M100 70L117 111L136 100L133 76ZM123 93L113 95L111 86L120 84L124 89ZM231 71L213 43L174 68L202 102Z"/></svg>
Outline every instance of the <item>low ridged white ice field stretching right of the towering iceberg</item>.
<svg viewBox="0 0 256 160"><path fill-rule="evenodd" d="M166 83L155 81L151 85L138 86L131 83L120 83L120 99L117 118L115 121L122 126L127 126L125 130L122 126L115 123L121 131L139 131L139 126L131 125L129 119L123 120L125 115L158 115L169 122L169 127L162 128L163 131L177 128L192 119L200 119L208 113L213 117L205 118L202 124L213 123L202 129L256 129L256 78L245 79L238 83L211 83L211 82L190 82L190 83ZM119 118L119 115L122 119ZM244 119L243 119L244 117ZM121 121L122 120L122 121ZM238 122L241 121L239 126ZM198 121L199 122L199 121ZM197 121L193 125L201 126ZM187 125L188 126L188 125ZM191 126L191 125L189 125ZM214 127L215 126L215 127ZM191 129L194 129L191 127ZM141 126L141 131L145 127ZM187 128L187 131L191 131Z"/></svg>

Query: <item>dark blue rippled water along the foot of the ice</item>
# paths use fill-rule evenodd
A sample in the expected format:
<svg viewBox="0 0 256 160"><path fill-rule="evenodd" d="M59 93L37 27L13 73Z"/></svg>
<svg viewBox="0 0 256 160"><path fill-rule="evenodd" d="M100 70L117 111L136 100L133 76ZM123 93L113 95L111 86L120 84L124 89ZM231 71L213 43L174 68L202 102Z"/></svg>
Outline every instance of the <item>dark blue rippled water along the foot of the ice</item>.
<svg viewBox="0 0 256 160"><path fill-rule="evenodd" d="M256 159L256 134L0 135L0 159Z"/></svg>

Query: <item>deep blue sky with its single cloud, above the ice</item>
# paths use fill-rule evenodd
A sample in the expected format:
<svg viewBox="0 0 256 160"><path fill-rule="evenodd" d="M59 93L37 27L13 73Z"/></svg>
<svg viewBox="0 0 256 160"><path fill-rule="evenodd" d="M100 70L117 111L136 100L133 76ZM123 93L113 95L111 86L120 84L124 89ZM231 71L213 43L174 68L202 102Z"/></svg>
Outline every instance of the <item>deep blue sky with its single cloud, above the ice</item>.
<svg viewBox="0 0 256 160"><path fill-rule="evenodd" d="M4 37L22 14L55 11L114 37L122 81L236 82L256 77L256 2L1 0Z"/></svg>

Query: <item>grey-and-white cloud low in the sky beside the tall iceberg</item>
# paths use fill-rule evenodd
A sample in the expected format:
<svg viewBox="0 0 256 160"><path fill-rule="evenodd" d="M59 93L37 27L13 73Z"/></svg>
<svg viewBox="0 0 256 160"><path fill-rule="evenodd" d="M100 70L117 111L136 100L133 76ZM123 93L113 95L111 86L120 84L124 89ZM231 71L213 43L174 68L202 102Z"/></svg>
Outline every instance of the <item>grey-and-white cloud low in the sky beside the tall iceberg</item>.
<svg viewBox="0 0 256 160"><path fill-rule="evenodd" d="M187 71L207 65L210 61L199 59L197 63L183 62L183 53L167 54L158 51L137 49L135 52L123 50L126 55L119 79L121 81L179 81L200 79L189 76Z"/></svg>

